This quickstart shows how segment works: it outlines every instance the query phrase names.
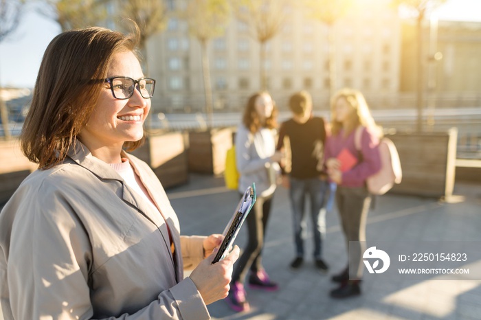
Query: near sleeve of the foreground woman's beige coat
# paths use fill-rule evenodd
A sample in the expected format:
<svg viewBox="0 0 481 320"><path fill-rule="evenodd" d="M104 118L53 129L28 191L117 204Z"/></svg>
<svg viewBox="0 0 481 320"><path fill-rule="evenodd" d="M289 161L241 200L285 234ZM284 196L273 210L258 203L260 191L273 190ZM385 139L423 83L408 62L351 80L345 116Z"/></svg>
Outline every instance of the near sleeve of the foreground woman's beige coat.
<svg viewBox="0 0 481 320"><path fill-rule="evenodd" d="M63 192L39 190L17 192L2 212L14 212L15 217L7 260L9 311L14 319L93 319L89 235ZM104 319L210 316L194 283L186 278L143 308Z"/></svg>

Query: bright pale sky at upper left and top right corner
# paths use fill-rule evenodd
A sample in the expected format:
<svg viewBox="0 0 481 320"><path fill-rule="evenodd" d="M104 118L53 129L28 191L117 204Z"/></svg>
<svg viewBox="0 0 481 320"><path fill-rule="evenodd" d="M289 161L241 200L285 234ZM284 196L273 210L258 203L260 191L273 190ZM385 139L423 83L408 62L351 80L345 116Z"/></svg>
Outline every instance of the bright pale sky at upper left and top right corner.
<svg viewBox="0 0 481 320"><path fill-rule="evenodd" d="M481 0L447 0L440 20L481 21ZM60 33L57 23L27 10L21 25L0 43L0 87L33 88L45 48Z"/></svg>

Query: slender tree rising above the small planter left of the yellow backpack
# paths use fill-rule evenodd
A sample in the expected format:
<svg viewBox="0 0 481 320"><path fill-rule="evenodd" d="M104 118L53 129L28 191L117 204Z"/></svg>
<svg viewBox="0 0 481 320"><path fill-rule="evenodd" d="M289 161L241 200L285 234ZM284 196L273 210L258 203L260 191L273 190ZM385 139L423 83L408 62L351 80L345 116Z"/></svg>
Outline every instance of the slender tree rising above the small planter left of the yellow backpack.
<svg viewBox="0 0 481 320"><path fill-rule="evenodd" d="M212 38L224 34L230 20L231 6L229 0L188 0L186 7L179 10L178 14L188 23L189 33L197 38L201 45L205 113L208 117L208 126L212 128L212 85L208 43Z"/></svg>

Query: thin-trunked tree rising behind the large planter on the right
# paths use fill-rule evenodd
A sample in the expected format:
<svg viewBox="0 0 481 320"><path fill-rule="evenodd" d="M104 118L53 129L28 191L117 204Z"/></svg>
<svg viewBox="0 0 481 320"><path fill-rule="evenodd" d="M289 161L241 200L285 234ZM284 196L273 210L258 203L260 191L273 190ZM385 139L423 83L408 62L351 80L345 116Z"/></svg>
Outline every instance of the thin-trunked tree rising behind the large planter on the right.
<svg viewBox="0 0 481 320"><path fill-rule="evenodd" d="M416 110L417 121L416 130L421 133L423 131L423 107L424 107L424 72L425 72L425 54L423 50L423 21L425 16L434 8L445 3L446 0L392 0L392 4L396 7L404 7L410 9L413 16L416 16L417 30L417 89L416 89Z"/></svg>

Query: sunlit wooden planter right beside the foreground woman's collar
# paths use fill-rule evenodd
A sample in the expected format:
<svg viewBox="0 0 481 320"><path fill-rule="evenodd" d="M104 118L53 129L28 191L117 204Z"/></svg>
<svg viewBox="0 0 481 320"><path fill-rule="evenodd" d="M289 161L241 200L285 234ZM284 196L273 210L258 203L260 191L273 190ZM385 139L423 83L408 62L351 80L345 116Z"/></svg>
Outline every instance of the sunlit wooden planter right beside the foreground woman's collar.
<svg viewBox="0 0 481 320"><path fill-rule="evenodd" d="M131 153L150 165L164 187L181 185L188 182L186 139L180 132L151 135Z"/></svg>

